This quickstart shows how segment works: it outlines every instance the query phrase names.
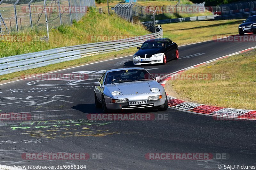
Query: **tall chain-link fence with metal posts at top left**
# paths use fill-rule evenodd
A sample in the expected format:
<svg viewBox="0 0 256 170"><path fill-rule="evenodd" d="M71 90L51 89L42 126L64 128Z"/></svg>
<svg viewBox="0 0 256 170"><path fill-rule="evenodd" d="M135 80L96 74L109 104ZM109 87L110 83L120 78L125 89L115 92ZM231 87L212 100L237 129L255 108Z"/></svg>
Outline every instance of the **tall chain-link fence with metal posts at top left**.
<svg viewBox="0 0 256 170"><path fill-rule="evenodd" d="M94 0L2 0L0 1L0 34L24 29L46 31L80 20ZM47 21L47 24L46 24Z"/></svg>

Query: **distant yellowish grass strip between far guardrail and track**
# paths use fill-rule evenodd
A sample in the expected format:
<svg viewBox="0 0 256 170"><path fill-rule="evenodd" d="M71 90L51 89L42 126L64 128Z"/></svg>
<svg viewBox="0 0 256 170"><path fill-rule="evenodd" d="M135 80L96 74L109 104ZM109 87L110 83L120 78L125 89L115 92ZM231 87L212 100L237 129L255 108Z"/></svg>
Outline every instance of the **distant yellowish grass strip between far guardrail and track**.
<svg viewBox="0 0 256 170"><path fill-rule="evenodd" d="M163 24L164 37L172 39L178 45L212 40L216 35L236 35L238 25L243 19L220 21L193 21Z"/></svg>

